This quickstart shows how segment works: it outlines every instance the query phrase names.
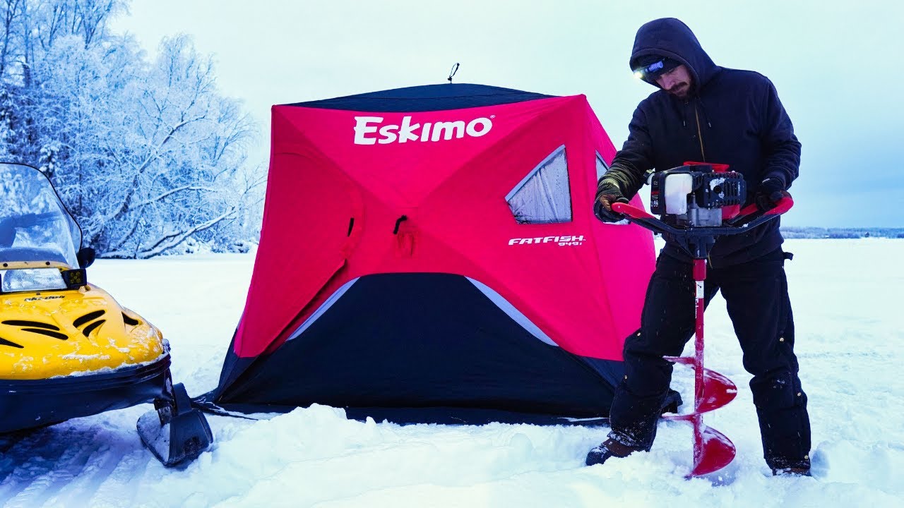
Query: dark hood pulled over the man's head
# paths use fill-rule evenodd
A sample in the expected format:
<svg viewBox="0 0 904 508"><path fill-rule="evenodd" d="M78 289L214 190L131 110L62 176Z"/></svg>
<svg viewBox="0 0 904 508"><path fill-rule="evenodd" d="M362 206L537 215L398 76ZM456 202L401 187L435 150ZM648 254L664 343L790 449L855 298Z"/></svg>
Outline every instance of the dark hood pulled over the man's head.
<svg viewBox="0 0 904 508"><path fill-rule="evenodd" d="M701 89L719 70L691 29L675 18L656 19L637 30L628 62L631 70L636 69L637 61L647 55L667 56L682 62L691 72L694 89ZM646 82L659 88L655 81Z"/></svg>

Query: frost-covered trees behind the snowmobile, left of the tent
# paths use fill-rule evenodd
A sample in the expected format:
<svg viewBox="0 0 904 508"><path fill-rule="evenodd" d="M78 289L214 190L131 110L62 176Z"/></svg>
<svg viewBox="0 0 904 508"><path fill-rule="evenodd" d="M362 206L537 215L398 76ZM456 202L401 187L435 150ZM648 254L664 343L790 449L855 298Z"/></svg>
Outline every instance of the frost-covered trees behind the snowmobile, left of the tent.
<svg viewBox="0 0 904 508"><path fill-rule="evenodd" d="M0 1L0 156L52 179L85 244L146 258L256 236L257 128L190 38L148 61L108 31L122 0Z"/></svg>

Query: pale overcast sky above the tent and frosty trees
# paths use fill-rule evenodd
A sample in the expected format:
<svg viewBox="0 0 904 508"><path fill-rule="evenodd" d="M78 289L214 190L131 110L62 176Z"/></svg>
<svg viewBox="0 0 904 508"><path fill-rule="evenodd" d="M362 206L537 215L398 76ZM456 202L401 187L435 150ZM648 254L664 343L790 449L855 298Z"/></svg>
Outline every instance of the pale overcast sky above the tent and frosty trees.
<svg viewBox="0 0 904 508"><path fill-rule="evenodd" d="M717 64L771 79L803 144L795 226L904 227L904 2L134 0L113 24L154 55L187 33L221 91L269 108L406 86L480 83L587 95L616 146L653 88L627 61L637 28L688 24ZM645 189L642 193L648 193Z"/></svg>

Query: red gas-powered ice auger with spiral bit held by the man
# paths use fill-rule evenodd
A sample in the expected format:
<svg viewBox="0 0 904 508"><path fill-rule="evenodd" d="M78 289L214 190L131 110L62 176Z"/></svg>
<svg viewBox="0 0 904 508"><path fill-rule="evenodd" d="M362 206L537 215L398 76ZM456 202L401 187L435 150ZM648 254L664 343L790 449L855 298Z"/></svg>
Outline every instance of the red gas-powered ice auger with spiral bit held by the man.
<svg viewBox="0 0 904 508"><path fill-rule="evenodd" d="M787 212L794 202L788 196L766 212L756 204L741 209L747 196L747 185L741 174L727 171L728 165L684 164L650 177L650 211L661 219L624 202L613 204L612 210L625 214L628 221L647 230L670 235L693 258L694 355L666 357L670 362L691 365L694 369L693 412L665 418L692 423L693 469L689 476L700 476L728 466L735 456L734 444L718 430L703 425L702 414L728 404L738 393L728 378L703 368L706 259L716 237L749 231Z"/></svg>

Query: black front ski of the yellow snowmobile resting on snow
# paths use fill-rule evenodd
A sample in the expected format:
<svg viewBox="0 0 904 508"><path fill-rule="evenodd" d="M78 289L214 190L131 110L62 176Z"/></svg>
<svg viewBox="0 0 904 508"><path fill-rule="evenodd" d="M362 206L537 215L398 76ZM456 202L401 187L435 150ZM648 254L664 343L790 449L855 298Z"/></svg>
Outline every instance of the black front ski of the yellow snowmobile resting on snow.
<svg viewBox="0 0 904 508"><path fill-rule="evenodd" d="M182 383L174 385L167 377L165 392L154 400L154 409L138 419L138 436L164 466L191 461L211 446L211 427L203 413L192 407Z"/></svg>

